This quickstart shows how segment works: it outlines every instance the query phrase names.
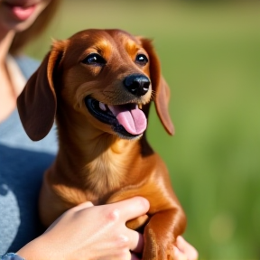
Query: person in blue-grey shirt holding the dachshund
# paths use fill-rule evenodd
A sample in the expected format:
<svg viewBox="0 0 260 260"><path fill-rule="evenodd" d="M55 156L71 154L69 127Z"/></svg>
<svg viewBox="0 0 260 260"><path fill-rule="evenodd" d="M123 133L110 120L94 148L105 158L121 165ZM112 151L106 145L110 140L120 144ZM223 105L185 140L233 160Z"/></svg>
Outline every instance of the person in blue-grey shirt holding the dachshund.
<svg viewBox="0 0 260 260"><path fill-rule="evenodd" d="M39 65L21 50L45 29L58 5L59 0L0 0L0 259L139 259L144 238L125 222L148 211L141 197L103 206L85 202L41 232L38 193L57 152L56 133L52 129L33 143L23 131L16 98ZM174 259L198 258L182 237L173 248Z"/></svg>

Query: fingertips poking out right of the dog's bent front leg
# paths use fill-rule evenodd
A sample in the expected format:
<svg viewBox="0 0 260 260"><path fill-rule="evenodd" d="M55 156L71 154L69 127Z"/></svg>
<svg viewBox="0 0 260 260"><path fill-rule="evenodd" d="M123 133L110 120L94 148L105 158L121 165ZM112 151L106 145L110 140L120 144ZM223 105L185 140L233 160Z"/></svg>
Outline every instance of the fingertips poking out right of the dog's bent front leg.
<svg viewBox="0 0 260 260"><path fill-rule="evenodd" d="M183 237L179 236L176 239L176 246L179 249L178 251L174 249L174 255L179 256L179 258L181 257L181 255L186 255L186 258L180 258L180 260L182 259L188 259L188 260L197 260L199 257L199 254L197 252L197 250L191 246ZM176 252L176 253L175 253ZM179 260L179 258L176 257L176 259Z"/></svg>

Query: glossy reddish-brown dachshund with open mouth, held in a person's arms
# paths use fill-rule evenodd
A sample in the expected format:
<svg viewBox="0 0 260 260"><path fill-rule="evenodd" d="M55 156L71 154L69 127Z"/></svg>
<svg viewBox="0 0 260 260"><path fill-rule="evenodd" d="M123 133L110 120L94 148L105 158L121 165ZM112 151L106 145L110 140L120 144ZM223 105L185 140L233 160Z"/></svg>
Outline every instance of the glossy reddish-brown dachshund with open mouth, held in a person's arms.
<svg viewBox="0 0 260 260"><path fill-rule="evenodd" d="M49 133L55 116L58 125L60 149L45 172L40 199L44 225L86 200L98 205L143 196L150 201L147 216L127 226L145 222L143 259L169 259L186 218L162 159L144 135L152 99L173 134L169 96L147 39L87 30L53 43L18 98L32 140Z"/></svg>

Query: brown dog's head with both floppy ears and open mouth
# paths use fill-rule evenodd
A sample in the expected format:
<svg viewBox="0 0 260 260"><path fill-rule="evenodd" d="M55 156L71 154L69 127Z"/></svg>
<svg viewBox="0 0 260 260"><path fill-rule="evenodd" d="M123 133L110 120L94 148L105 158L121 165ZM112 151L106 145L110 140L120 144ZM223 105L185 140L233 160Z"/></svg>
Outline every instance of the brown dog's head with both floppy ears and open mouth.
<svg viewBox="0 0 260 260"><path fill-rule="evenodd" d="M53 42L17 104L34 141L49 133L57 109L86 117L107 133L134 139L146 129L152 100L164 128L173 134L169 98L150 40L120 30L86 30Z"/></svg>

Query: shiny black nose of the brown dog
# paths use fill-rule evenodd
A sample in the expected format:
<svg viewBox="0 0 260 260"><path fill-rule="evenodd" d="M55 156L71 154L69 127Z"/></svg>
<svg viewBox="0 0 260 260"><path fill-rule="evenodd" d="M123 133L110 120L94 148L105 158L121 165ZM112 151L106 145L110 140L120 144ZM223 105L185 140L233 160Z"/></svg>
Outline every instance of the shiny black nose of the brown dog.
<svg viewBox="0 0 260 260"><path fill-rule="evenodd" d="M125 78L124 85L129 92L141 97L148 92L150 80L144 75L134 74Z"/></svg>

